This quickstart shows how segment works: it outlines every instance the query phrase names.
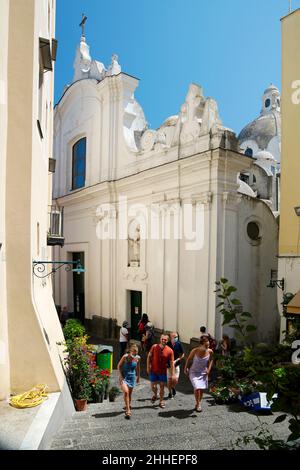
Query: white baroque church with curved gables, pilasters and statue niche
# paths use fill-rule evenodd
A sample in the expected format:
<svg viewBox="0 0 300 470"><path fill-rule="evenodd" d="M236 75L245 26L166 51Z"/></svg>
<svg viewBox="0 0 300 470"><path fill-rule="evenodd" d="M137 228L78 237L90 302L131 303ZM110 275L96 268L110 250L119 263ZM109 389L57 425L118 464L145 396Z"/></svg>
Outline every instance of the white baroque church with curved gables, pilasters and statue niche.
<svg viewBox="0 0 300 470"><path fill-rule="evenodd" d="M93 60L82 35L74 77L55 107L54 204L64 211L65 243L57 305L97 335L132 337L142 313L157 333L184 343L201 325L223 332L215 281L226 277L253 314L256 339L276 341L280 175L280 94L271 85L260 116L237 137L218 106L190 84L178 114L150 129L135 99L139 81ZM232 331L225 331L233 336Z"/></svg>

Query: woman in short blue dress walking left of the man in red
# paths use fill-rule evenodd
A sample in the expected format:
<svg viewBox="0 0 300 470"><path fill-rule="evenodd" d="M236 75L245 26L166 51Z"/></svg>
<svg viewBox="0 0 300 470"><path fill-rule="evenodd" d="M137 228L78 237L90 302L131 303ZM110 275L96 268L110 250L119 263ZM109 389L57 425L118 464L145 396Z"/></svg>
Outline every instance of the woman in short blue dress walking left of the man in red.
<svg viewBox="0 0 300 470"><path fill-rule="evenodd" d="M128 353L120 359L117 369L119 371L120 386L124 394L125 418L131 416L131 396L136 383L140 381L140 356L136 344L131 344Z"/></svg>

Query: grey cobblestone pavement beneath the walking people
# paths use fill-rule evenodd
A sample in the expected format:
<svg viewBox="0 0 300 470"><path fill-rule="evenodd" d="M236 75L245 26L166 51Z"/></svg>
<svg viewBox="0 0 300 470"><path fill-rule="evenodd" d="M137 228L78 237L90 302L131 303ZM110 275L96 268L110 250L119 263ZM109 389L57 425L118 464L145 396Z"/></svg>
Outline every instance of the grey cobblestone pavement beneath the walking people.
<svg viewBox="0 0 300 470"><path fill-rule="evenodd" d="M117 371L112 382L117 383ZM165 392L167 395L167 391ZM266 423L276 438L286 439L288 423L274 424L278 413L254 414L239 404L215 405L204 395L203 412L194 411L193 390L181 374L174 399L166 399L161 409L150 401L150 382L143 375L134 389L132 417L125 419L123 397L110 403L90 404L88 410L74 413L51 443L51 449L70 450L217 450L232 449L239 437L258 434ZM245 449L257 449L250 443Z"/></svg>

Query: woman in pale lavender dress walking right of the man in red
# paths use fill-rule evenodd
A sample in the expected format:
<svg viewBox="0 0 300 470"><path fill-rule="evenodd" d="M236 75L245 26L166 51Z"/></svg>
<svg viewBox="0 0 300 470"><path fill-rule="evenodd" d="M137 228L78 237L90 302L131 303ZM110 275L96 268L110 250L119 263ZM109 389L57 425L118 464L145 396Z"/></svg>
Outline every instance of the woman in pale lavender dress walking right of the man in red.
<svg viewBox="0 0 300 470"><path fill-rule="evenodd" d="M192 364L189 367L190 363ZM207 338L202 337L199 346L192 349L184 367L184 373L189 375L194 387L195 410L200 412L204 390L208 388L208 376L213 365L213 350L209 348Z"/></svg>

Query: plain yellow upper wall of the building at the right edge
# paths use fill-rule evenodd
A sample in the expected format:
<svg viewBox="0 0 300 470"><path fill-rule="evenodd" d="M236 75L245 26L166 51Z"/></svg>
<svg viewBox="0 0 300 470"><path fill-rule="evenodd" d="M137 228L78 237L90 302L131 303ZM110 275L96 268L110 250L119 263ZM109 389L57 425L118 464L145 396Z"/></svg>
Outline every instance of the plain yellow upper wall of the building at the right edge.
<svg viewBox="0 0 300 470"><path fill-rule="evenodd" d="M300 255L300 9L282 18L279 255Z"/></svg>

